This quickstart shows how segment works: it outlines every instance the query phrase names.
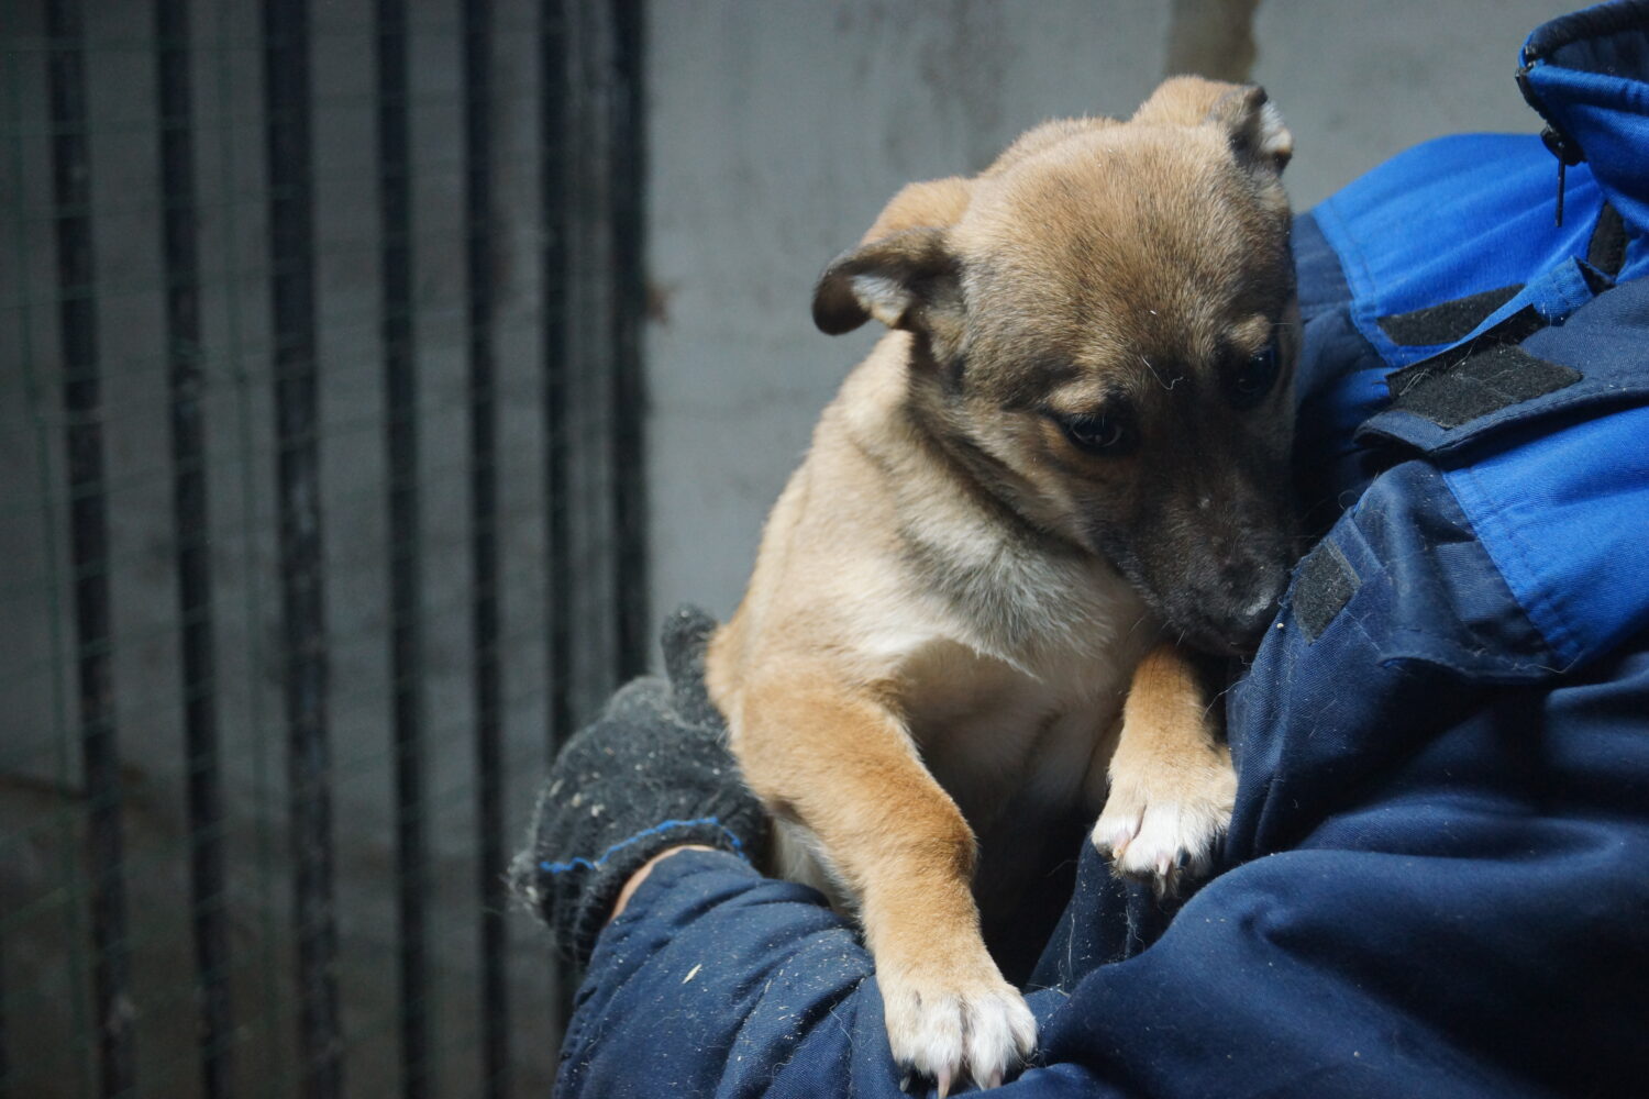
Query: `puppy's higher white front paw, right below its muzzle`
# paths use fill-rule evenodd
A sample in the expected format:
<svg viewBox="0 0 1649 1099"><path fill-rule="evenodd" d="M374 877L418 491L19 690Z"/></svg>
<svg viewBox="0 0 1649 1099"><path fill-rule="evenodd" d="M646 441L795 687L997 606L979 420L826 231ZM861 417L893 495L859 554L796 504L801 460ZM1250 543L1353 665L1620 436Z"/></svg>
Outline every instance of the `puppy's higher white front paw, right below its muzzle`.
<svg viewBox="0 0 1649 1099"><path fill-rule="evenodd" d="M1196 766L1138 773L1111 766L1111 793L1093 845L1118 877L1148 882L1158 896L1207 873L1214 844L1237 802L1237 773L1224 750Z"/></svg>

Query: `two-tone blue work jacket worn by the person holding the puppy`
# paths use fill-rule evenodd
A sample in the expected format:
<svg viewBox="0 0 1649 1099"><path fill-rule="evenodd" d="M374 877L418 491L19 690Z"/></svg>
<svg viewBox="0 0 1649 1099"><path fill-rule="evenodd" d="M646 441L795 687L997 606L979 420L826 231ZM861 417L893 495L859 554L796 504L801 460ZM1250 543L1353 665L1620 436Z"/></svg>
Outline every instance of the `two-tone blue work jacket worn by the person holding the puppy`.
<svg viewBox="0 0 1649 1099"><path fill-rule="evenodd" d="M1169 913L1082 845L1003 1099L1649 1094L1646 81L1649 5L1565 16L1522 56L1545 142L1298 219L1322 537L1227 697L1217 875ZM604 933L556 1094L899 1083L851 926L688 852Z"/></svg>

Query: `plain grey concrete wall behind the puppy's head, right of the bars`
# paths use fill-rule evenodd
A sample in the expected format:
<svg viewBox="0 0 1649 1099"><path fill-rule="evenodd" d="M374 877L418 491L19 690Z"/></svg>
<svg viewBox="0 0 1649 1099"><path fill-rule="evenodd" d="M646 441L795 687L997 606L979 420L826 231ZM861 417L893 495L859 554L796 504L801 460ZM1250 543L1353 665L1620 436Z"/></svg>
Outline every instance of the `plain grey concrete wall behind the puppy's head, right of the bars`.
<svg viewBox="0 0 1649 1099"><path fill-rule="evenodd" d="M813 278L882 203L910 180L984 166L1044 119L1133 112L1164 76L1169 41L1204 71L1233 58L1240 69L1253 7L655 0L646 362L658 611L737 605L768 506L874 341L869 326L838 339L813 330ZM1512 81L1517 48L1570 7L1261 0L1250 79L1293 129L1296 208L1430 137L1535 132Z"/></svg>

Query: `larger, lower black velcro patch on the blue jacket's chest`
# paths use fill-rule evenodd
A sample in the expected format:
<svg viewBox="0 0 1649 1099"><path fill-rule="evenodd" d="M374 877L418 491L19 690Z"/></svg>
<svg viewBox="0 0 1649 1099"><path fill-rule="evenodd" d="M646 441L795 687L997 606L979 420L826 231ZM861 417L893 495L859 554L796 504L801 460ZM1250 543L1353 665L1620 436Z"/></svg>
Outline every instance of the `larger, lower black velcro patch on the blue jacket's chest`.
<svg viewBox="0 0 1649 1099"><path fill-rule="evenodd" d="M1535 358L1515 344L1492 344L1448 369L1438 369L1436 359L1407 366L1387 384L1392 409L1451 428L1567 389L1580 379L1580 371Z"/></svg>

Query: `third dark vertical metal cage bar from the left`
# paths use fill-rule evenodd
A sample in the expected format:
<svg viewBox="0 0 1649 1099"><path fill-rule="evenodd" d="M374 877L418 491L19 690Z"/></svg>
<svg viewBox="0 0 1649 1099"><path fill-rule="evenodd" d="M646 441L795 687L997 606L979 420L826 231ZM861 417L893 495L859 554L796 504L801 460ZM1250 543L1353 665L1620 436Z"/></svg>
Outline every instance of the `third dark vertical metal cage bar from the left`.
<svg viewBox="0 0 1649 1099"><path fill-rule="evenodd" d="M333 1099L343 1091L343 1035L327 720L308 5L305 0L264 0L262 16L282 679L298 957L297 1076L308 1099Z"/></svg>

